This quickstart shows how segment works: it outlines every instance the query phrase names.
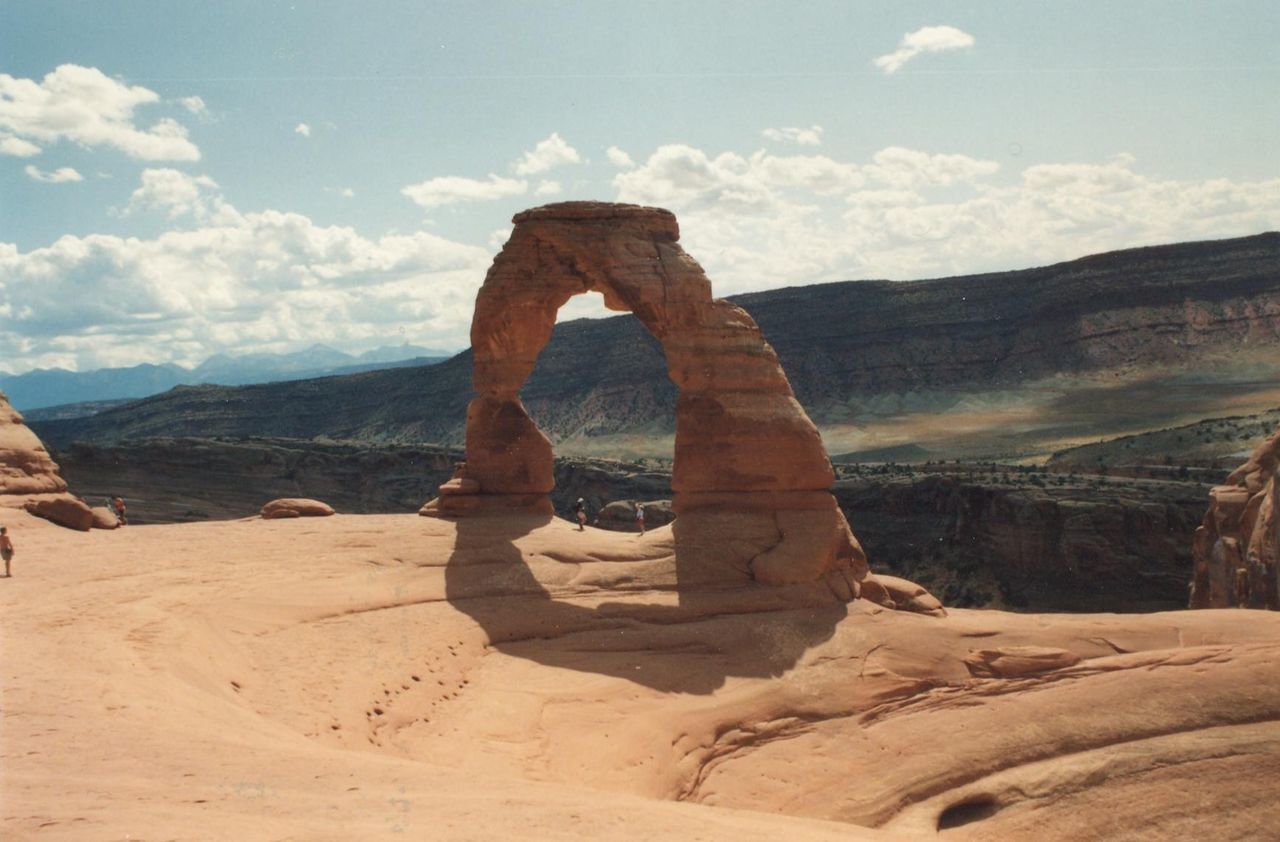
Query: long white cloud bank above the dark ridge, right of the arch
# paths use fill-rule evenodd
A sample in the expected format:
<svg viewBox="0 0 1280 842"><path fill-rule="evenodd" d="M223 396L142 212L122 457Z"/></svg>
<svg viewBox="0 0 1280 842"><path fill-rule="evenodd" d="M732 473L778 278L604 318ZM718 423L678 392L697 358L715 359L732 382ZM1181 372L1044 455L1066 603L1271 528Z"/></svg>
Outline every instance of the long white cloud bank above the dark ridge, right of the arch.
<svg viewBox="0 0 1280 842"><path fill-rule="evenodd" d="M678 214L717 294L1016 269L1280 228L1280 179L1161 180L1128 155L1006 174L904 147L840 161L663 146L613 184L617 201Z"/></svg>

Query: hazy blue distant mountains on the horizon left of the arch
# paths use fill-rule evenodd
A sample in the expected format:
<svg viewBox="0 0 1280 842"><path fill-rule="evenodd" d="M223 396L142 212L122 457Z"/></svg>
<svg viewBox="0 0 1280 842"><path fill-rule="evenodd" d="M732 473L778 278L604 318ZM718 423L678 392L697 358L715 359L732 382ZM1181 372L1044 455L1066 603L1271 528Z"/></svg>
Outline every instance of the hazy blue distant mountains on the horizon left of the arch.
<svg viewBox="0 0 1280 842"><path fill-rule="evenodd" d="M67 371L37 369L20 375L0 375L0 390L19 412L123 398L146 398L178 385L301 380L338 374L358 374L397 366L430 365L452 357L448 351L419 346L387 346L349 354L315 344L293 353L214 354L195 369L179 365L140 365L129 369Z"/></svg>

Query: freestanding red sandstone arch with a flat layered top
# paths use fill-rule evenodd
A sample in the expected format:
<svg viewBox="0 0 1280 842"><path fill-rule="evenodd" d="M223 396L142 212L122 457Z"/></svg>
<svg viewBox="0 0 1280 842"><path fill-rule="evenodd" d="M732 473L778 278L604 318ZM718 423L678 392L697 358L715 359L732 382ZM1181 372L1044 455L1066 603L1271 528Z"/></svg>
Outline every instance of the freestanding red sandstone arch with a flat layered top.
<svg viewBox="0 0 1280 842"><path fill-rule="evenodd" d="M603 294L662 343L680 389L673 507L685 552L712 548L758 581L792 584L841 572L850 594L865 557L828 489L817 427L773 348L740 307L712 297L678 244L676 218L635 205L564 202L517 214L476 297L466 463L424 514L550 513L552 445L520 401L556 314L572 296ZM732 540L742 518L769 537ZM751 531L751 530L748 530Z"/></svg>

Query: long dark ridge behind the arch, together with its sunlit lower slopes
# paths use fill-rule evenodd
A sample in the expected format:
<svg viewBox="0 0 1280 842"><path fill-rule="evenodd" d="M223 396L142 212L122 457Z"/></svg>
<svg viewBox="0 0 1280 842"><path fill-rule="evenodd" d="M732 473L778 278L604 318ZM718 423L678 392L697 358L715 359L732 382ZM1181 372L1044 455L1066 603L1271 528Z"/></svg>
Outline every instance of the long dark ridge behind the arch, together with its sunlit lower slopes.
<svg viewBox="0 0 1280 842"><path fill-rule="evenodd" d="M1019 271L732 297L842 461L1023 458L1280 406L1280 233ZM146 436L458 445L471 353L323 380L180 388L38 421L52 447ZM556 326L521 392L557 453L669 456L676 388L632 316Z"/></svg>

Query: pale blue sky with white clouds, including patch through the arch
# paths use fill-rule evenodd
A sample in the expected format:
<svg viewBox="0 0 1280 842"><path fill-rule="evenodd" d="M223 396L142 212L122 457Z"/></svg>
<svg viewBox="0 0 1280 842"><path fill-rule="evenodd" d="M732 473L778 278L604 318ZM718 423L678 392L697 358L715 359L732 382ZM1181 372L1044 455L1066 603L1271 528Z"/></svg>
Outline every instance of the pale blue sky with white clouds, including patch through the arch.
<svg viewBox="0 0 1280 842"><path fill-rule="evenodd" d="M5 3L0 370L461 348L525 207L718 294L1280 228L1280 4ZM575 301L563 317L598 312Z"/></svg>

